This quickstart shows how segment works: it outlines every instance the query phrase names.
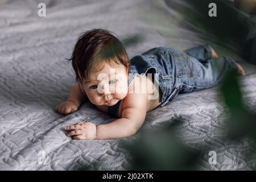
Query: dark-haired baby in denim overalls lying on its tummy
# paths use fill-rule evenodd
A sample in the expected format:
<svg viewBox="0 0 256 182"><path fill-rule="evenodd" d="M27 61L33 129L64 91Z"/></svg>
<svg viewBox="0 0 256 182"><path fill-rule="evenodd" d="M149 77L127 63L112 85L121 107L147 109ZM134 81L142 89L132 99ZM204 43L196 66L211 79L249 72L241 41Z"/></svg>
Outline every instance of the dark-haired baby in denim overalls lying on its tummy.
<svg viewBox="0 0 256 182"><path fill-rule="evenodd" d="M129 137L141 128L147 112L163 107L178 93L210 88L232 69L245 75L241 65L230 57L218 57L208 45L184 52L156 47L129 60L123 44L102 29L81 34L69 60L77 82L56 111L67 115L89 101L117 118L105 125L66 126L73 139Z"/></svg>

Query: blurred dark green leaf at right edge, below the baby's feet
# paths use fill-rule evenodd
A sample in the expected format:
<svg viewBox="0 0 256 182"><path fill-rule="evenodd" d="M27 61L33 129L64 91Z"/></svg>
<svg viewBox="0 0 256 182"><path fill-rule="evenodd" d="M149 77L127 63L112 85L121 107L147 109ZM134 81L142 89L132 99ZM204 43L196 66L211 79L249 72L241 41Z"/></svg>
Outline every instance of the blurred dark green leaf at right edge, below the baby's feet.
<svg viewBox="0 0 256 182"><path fill-rule="evenodd" d="M256 141L256 114L246 109L235 72L226 73L221 85L221 98L228 107L226 119L228 137L251 137Z"/></svg>

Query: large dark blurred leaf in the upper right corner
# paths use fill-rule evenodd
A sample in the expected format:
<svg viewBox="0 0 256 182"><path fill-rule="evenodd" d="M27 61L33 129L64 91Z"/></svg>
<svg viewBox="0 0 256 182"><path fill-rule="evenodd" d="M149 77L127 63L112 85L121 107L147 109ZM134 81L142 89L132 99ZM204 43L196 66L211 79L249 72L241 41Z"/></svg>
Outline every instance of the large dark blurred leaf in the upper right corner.
<svg viewBox="0 0 256 182"><path fill-rule="evenodd" d="M172 0L168 0L172 1ZM241 51L241 45L249 32L248 17L237 10L229 0L181 0L188 6L181 6L180 12L184 20L199 27L205 38L222 47ZM216 3L217 16L210 17L208 7Z"/></svg>

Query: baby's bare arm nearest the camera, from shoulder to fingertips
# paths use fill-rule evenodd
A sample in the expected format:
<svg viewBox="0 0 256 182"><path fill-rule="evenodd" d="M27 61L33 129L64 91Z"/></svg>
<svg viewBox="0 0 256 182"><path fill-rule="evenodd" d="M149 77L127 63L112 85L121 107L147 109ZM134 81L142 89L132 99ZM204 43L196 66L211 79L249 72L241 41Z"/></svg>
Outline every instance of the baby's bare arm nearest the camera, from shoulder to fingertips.
<svg viewBox="0 0 256 182"><path fill-rule="evenodd" d="M128 94L123 101L122 118L105 125L79 122L65 127L73 139L115 139L130 137L143 125L147 113L147 94Z"/></svg>

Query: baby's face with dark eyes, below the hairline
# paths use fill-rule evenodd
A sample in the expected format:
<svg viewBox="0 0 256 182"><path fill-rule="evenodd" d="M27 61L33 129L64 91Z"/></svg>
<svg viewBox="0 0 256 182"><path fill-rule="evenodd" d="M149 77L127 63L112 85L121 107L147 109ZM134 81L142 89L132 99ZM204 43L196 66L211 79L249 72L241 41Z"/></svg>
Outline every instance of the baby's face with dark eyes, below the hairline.
<svg viewBox="0 0 256 182"><path fill-rule="evenodd" d="M108 63L90 78L82 82L84 91L94 105L112 106L126 97L128 93L128 73L123 64Z"/></svg>

